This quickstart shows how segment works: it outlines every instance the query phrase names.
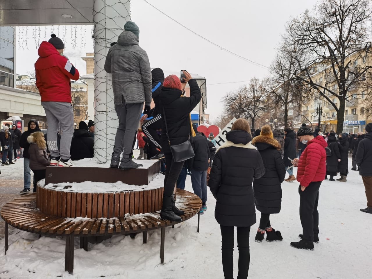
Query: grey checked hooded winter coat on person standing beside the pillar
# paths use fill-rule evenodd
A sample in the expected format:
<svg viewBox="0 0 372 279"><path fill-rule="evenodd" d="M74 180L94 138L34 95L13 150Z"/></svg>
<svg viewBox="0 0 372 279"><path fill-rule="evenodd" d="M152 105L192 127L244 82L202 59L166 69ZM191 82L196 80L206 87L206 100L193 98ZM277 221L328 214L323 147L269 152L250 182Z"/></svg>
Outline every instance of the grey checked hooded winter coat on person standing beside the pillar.
<svg viewBox="0 0 372 279"><path fill-rule="evenodd" d="M110 47L105 70L112 74L115 105L125 103L151 104L153 89L150 62L147 53L138 45L138 38L131 31L123 31L118 43Z"/></svg>

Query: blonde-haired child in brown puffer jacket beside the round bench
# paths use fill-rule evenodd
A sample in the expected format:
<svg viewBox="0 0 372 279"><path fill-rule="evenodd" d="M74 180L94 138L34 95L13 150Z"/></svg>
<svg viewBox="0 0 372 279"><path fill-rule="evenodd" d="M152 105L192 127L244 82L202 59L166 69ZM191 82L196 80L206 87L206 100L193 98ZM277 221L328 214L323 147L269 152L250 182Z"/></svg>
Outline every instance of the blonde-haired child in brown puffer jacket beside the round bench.
<svg viewBox="0 0 372 279"><path fill-rule="evenodd" d="M50 159L47 153L47 142L42 132L35 132L28 136L30 144L28 153L30 155L30 169L33 172L33 192L36 192L36 184L45 178L45 168L49 166Z"/></svg>

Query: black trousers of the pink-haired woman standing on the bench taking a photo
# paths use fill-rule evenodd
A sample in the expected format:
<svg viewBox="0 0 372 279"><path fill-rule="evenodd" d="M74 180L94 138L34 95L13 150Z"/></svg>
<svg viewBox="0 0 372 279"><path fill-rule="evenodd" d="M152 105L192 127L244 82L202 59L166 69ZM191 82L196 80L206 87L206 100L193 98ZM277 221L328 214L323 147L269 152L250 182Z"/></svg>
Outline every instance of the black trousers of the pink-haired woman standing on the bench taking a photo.
<svg viewBox="0 0 372 279"><path fill-rule="evenodd" d="M173 195L174 185L176 185L177 179L183 168L184 161L175 162L172 153L165 153L164 156L167 168L164 178L164 196L171 197Z"/></svg>

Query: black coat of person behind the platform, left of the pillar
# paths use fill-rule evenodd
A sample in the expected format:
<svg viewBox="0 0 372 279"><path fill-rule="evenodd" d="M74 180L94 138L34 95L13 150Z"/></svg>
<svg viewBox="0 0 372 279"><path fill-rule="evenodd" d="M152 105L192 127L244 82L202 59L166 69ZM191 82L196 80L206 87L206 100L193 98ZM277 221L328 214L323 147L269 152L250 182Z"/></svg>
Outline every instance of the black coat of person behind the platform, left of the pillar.
<svg viewBox="0 0 372 279"><path fill-rule="evenodd" d="M88 131L78 129L74 132L70 154L73 161L94 157L94 140Z"/></svg>

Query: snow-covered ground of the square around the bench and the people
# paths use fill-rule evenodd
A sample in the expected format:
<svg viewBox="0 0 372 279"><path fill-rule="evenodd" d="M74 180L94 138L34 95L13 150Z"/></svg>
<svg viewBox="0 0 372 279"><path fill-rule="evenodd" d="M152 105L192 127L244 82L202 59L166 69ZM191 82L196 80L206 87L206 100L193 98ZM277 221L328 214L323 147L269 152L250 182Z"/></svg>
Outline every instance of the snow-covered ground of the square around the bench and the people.
<svg viewBox="0 0 372 279"><path fill-rule="evenodd" d="M1 176L22 177L20 165L2 167ZM350 159L349 165L351 169ZM248 278L371 279L372 215L359 211L366 206L359 173L350 170L347 180L346 183L325 180L321 185L320 243L315 244L314 251L289 246L291 241L298 240L302 229L298 183L284 182L282 211L270 218L273 227L282 232L283 241L256 243L257 224L252 226ZM189 176L186 190L192 191ZM6 256L4 238L0 241L0 278L223 278L221 233L214 218L215 199L208 193L208 211L201 215L199 234L197 217L174 229L166 228L163 265L159 258L160 230L149 233L147 244L142 244L142 234L134 240L116 235L101 244L89 244L88 252L79 249L76 238L73 275L64 272L63 238L38 239L37 234L19 231L10 235ZM257 212L258 219L259 216ZM235 248L235 276L237 259Z"/></svg>

